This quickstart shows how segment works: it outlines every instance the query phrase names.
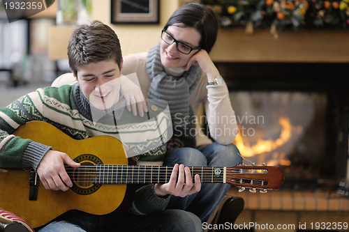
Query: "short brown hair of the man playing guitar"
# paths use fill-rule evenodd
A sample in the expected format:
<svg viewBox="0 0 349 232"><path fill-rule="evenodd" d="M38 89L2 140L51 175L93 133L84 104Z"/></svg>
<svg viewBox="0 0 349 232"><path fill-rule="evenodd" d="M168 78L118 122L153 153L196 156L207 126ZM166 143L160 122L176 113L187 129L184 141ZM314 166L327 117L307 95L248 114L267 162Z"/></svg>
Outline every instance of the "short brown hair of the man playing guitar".
<svg viewBox="0 0 349 232"><path fill-rule="evenodd" d="M121 65L122 54L119 38L110 26L95 20L91 25L78 26L68 44L69 66L77 77L80 65L114 60Z"/></svg>

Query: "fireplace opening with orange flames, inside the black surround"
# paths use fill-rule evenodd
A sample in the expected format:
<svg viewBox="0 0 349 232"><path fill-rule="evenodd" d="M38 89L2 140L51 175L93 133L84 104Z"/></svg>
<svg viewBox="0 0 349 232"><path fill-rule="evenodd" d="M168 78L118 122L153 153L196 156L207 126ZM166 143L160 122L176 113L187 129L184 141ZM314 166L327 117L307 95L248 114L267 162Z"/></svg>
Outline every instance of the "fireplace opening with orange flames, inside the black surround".
<svg viewBox="0 0 349 232"><path fill-rule="evenodd" d="M230 100L239 125L234 144L245 163L279 166L288 179L334 178L324 93L238 91Z"/></svg>

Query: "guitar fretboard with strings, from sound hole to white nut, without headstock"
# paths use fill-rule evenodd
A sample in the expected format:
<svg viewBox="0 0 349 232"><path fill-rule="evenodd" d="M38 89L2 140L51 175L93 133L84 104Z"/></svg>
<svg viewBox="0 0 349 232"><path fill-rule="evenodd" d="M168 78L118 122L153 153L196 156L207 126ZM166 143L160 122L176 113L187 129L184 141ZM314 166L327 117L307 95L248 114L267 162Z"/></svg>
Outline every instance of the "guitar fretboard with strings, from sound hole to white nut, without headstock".
<svg viewBox="0 0 349 232"><path fill-rule="evenodd" d="M89 180L89 184L150 184L168 183L173 167L133 166L133 165L94 165L67 171L75 180ZM199 174L201 183L225 183L225 167L190 167L194 180Z"/></svg>

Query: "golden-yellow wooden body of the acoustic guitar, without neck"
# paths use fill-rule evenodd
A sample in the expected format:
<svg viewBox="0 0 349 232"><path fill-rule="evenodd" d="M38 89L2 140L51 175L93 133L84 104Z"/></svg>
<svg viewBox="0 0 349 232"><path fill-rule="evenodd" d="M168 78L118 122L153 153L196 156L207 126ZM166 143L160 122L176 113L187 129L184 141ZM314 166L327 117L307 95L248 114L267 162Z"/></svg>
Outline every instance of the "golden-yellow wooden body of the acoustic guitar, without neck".
<svg viewBox="0 0 349 232"><path fill-rule="evenodd" d="M56 127L38 121L22 125L13 134L52 146L53 150L66 153L82 164L128 164L124 146L114 137L75 140ZM128 201L124 199L128 185L77 185L81 194L71 189L66 192L45 190L40 181L37 200L29 201L29 176L30 171L22 169L0 169L0 207L22 217L32 227L42 226L68 210L105 215Z"/></svg>

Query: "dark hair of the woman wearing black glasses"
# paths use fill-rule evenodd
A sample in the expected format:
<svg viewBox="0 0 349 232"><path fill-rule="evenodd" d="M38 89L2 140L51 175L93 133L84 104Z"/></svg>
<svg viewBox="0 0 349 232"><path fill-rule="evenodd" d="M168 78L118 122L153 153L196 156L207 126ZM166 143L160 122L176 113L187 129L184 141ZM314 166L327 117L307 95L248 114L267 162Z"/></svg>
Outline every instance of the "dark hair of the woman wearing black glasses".
<svg viewBox="0 0 349 232"><path fill-rule="evenodd" d="M166 31L172 25L198 30L201 35L199 46L207 53L211 52L218 33L218 21L213 10L199 3L188 3L172 14L163 30Z"/></svg>

